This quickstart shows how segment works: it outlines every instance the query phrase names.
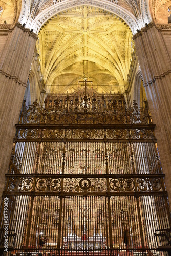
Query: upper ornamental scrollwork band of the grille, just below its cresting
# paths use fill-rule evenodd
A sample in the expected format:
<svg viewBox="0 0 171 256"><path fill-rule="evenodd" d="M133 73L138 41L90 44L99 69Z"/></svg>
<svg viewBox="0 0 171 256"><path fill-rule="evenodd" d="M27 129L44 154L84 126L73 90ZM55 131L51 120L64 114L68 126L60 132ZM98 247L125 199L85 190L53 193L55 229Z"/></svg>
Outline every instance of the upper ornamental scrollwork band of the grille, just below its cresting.
<svg viewBox="0 0 171 256"><path fill-rule="evenodd" d="M155 141L154 127L146 127L146 129L58 129L53 128L25 128L18 129L17 139L149 139Z"/></svg>

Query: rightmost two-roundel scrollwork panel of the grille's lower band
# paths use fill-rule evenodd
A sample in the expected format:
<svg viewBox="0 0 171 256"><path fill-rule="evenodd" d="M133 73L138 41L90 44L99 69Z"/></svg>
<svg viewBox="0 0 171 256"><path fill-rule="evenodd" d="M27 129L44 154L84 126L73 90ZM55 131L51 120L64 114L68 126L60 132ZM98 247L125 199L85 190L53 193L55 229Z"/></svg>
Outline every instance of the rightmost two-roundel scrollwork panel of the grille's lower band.
<svg viewBox="0 0 171 256"><path fill-rule="evenodd" d="M162 188L160 178L139 178L137 179L139 191L159 191Z"/></svg>

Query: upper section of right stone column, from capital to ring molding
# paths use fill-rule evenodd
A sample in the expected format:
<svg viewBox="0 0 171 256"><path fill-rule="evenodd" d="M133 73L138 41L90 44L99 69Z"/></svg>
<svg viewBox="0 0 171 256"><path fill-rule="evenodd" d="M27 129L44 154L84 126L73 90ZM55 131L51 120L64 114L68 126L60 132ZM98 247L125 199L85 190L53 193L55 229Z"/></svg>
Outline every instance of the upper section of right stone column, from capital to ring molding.
<svg viewBox="0 0 171 256"><path fill-rule="evenodd" d="M144 86L148 86L157 79L170 75L170 51L165 45L163 33L154 23L137 34L141 36L134 37L136 52Z"/></svg>

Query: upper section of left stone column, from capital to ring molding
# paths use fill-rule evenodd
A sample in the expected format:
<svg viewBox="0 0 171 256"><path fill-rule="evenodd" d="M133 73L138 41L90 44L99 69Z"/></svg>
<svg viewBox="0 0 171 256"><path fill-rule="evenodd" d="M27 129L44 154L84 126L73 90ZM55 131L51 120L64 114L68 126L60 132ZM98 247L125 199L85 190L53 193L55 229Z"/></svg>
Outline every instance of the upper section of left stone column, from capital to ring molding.
<svg viewBox="0 0 171 256"><path fill-rule="evenodd" d="M25 87L36 44L37 36L34 35L29 29L16 23L8 33L8 41L0 58L1 74Z"/></svg>

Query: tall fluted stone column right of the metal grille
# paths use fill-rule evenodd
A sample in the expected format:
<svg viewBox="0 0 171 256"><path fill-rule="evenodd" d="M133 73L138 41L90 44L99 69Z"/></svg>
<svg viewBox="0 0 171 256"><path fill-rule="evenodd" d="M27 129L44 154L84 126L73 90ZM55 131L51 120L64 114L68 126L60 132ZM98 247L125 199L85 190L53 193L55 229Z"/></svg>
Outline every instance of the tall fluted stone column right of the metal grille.
<svg viewBox="0 0 171 256"><path fill-rule="evenodd" d="M154 23L141 29L134 41L171 203L171 56Z"/></svg>

